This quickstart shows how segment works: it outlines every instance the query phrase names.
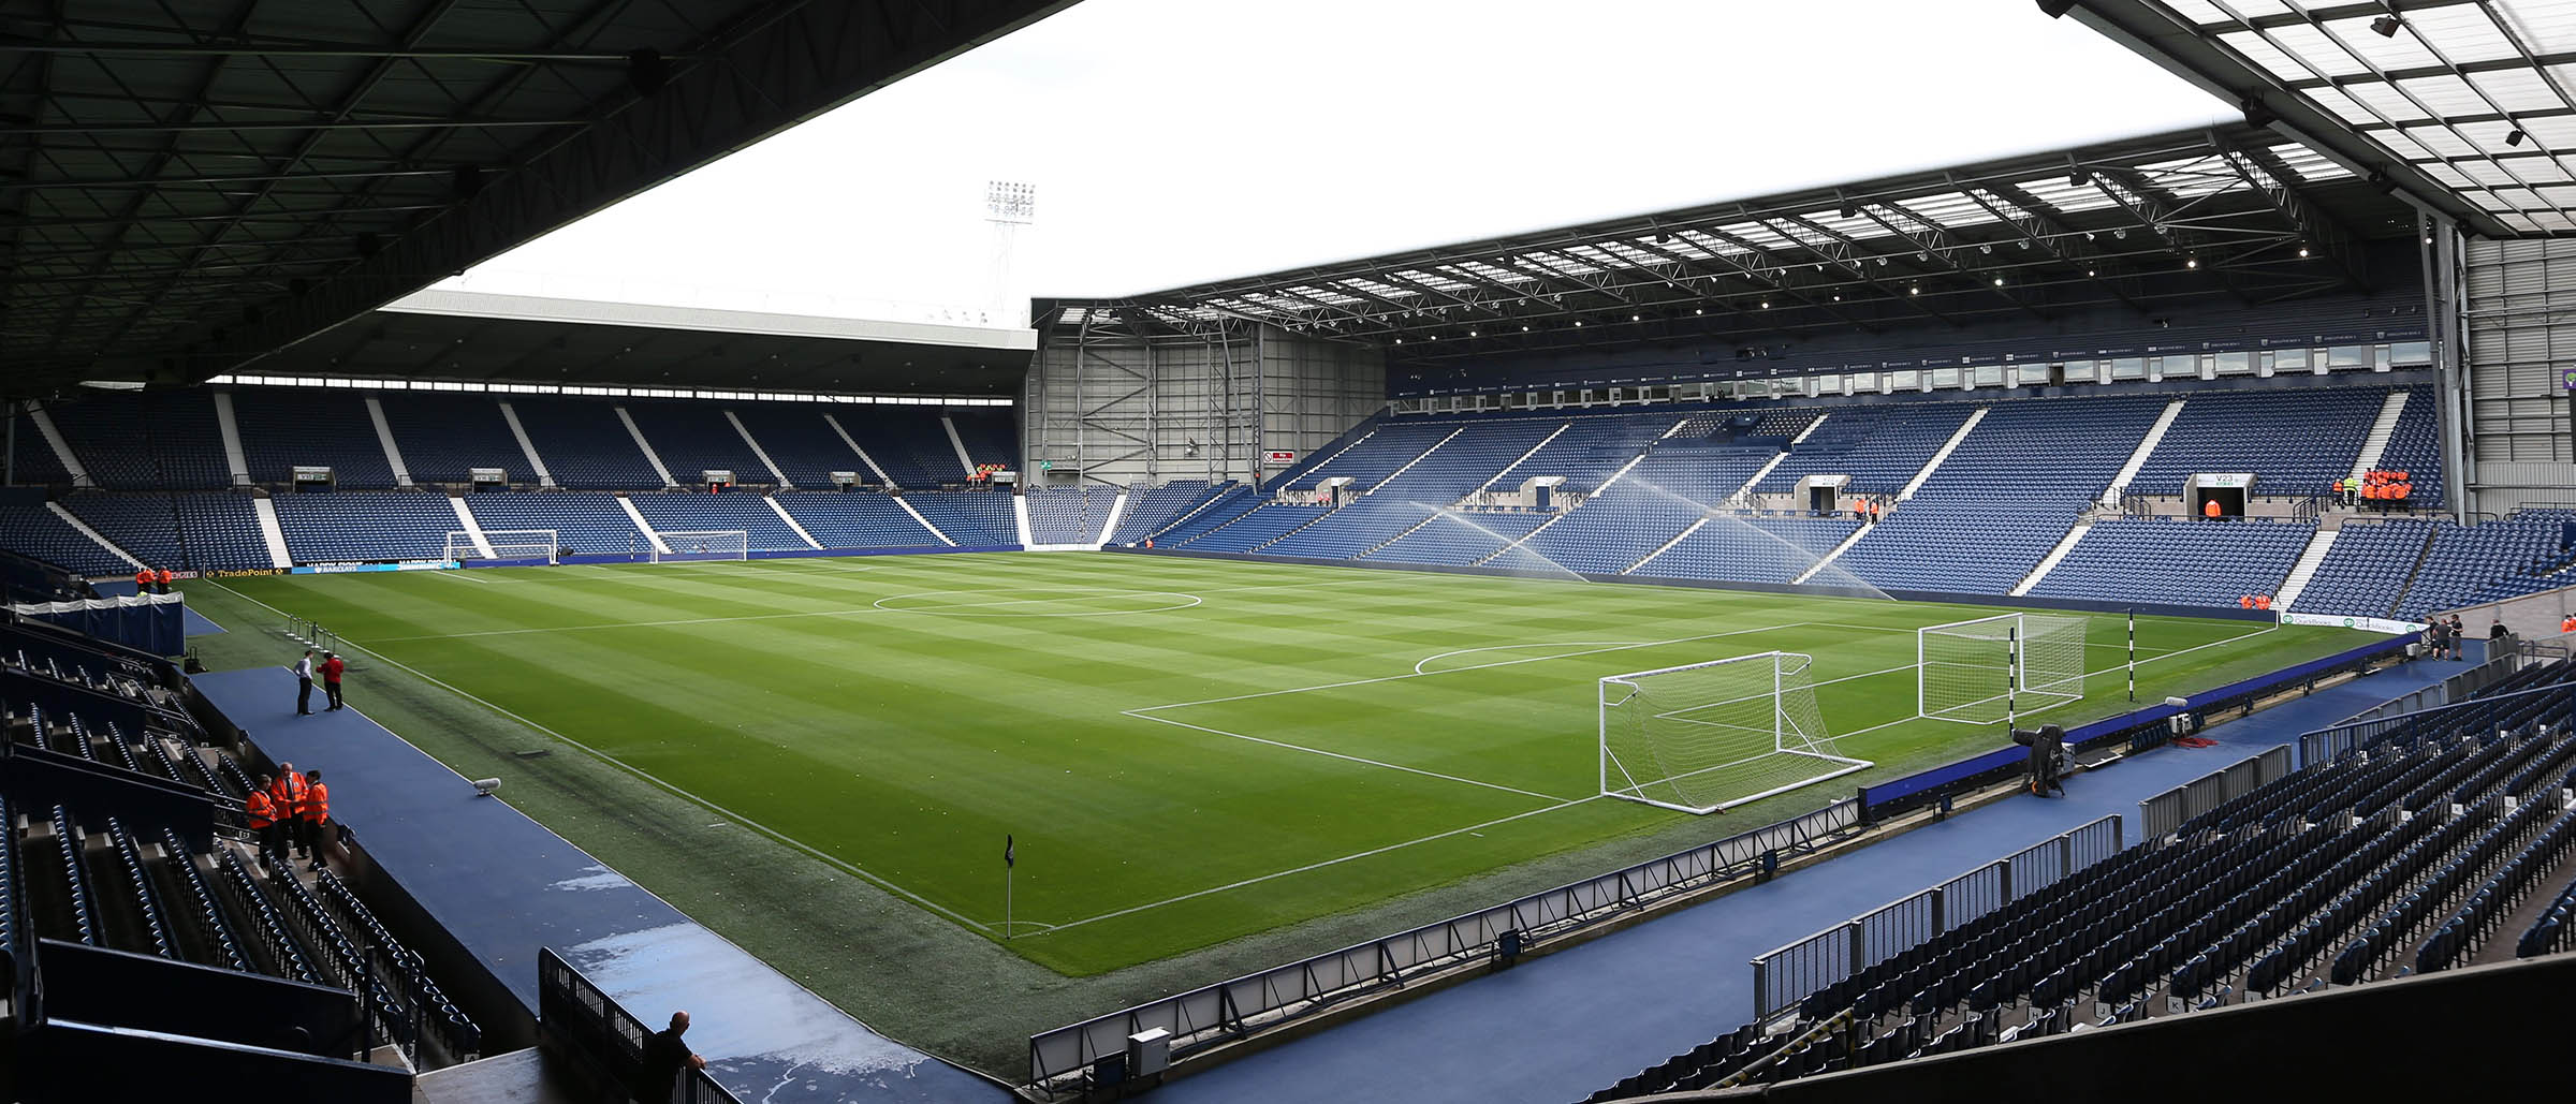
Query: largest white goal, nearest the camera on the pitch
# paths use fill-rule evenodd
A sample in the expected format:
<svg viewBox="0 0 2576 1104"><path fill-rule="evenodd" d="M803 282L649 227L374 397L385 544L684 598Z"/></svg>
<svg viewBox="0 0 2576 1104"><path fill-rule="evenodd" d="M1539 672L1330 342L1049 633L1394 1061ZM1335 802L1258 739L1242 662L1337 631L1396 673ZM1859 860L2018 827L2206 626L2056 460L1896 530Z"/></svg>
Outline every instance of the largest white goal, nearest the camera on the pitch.
<svg viewBox="0 0 2576 1104"><path fill-rule="evenodd" d="M1765 651L1600 679L1602 795L1716 813L1868 769L1824 728L1814 667Z"/></svg>

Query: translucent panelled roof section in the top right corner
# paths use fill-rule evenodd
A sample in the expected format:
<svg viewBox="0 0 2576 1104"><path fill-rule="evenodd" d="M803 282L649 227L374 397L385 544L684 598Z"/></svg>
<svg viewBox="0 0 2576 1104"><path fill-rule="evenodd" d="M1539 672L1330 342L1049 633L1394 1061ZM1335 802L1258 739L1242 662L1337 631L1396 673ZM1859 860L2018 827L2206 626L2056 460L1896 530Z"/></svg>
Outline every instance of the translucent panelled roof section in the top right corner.
<svg viewBox="0 0 2576 1104"><path fill-rule="evenodd" d="M2468 232L2576 232L2576 3L2079 0L2071 15Z"/></svg>

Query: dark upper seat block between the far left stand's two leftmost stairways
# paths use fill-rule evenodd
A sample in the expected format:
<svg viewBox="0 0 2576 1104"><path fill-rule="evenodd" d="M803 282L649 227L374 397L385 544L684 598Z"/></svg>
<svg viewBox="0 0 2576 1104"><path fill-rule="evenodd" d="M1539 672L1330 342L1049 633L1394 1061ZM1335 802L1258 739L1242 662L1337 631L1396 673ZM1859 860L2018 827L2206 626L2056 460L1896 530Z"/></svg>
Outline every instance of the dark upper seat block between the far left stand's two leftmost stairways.
<svg viewBox="0 0 2576 1104"><path fill-rule="evenodd" d="M44 412L98 486L232 486L214 391L100 391L49 401Z"/></svg>

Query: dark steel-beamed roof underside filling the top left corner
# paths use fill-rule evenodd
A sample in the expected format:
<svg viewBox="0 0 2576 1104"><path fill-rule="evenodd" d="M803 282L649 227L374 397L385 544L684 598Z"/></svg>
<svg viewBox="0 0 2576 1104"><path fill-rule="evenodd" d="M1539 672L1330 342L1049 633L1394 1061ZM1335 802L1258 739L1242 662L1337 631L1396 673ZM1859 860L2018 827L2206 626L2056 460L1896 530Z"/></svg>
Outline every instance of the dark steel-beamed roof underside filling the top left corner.
<svg viewBox="0 0 2576 1104"><path fill-rule="evenodd" d="M1072 0L0 10L0 389L191 383Z"/></svg>

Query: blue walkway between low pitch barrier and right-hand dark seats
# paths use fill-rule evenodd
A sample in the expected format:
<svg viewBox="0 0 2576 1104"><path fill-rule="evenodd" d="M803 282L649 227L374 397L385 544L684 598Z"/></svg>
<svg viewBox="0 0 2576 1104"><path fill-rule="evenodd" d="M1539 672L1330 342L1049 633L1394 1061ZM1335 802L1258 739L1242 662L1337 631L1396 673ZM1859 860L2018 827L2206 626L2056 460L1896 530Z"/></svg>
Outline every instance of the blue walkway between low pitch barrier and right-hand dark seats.
<svg viewBox="0 0 2576 1104"><path fill-rule="evenodd" d="M2009 798L1767 885L1607 934L1154 1091L1162 1104L1579 1101L1752 1019L1752 957L1994 862L2058 831L2331 726L2468 664L2416 661L2076 775L2066 798ZM1713 823L1739 831L1741 823Z"/></svg>

